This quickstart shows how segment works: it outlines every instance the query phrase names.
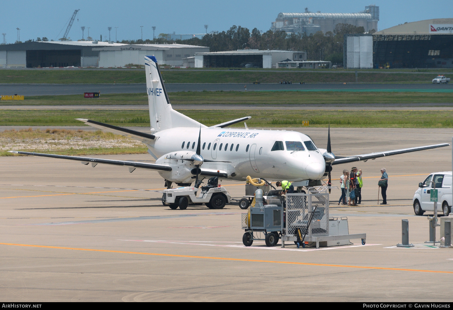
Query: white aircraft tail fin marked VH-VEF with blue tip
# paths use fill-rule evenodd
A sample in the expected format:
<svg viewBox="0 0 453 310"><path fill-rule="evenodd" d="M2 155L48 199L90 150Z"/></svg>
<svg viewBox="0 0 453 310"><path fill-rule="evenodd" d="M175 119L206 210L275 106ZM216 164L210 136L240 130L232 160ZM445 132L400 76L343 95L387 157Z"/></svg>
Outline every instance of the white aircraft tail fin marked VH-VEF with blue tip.
<svg viewBox="0 0 453 310"><path fill-rule="evenodd" d="M149 121L151 131L162 131L174 127L206 127L171 107L160 74L159 64L154 56L145 56L146 92L148 93Z"/></svg>

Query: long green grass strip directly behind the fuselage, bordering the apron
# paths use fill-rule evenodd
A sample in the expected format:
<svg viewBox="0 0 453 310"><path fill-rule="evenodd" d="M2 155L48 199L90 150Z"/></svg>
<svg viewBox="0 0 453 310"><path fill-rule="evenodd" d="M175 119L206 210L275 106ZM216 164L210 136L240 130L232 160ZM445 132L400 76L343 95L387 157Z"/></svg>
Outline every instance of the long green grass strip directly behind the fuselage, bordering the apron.
<svg viewBox="0 0 453 310"><path fill-rule="evenodd" d="M249 127L395 127L452 128L453 110L179 110L205 124L216 125L241 116L252 116ZM0 126L84 126L87 118L116 126L149 126L148 110L0 110ZM241 127L241 126L237 126Z"/></svg>

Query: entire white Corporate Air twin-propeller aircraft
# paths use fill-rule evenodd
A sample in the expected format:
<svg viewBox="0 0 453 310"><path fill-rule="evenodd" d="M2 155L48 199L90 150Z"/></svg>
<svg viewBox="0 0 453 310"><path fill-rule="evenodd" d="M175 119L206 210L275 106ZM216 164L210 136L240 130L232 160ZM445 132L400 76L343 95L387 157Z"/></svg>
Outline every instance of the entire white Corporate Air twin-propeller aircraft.
<svg viewBox="0 0 453 310"><path fill-rule="evenodd" d="M328 176L332 165L353 161L366 161L378 157L434 149L448 143L426 145L401 150L390 150L349 157L335 157L330 146L330 129L327 149L319 149L308 136L296 131L256 130L225 127L250 119L250 116L207 127L171 107L154 56L145 56L146 87L149 102L151 133L133 131L87 119L78 119L85 124L115 134L127 136L148 146L155 164L134 161L106 160L78 156L40 154L11 151L18 154L78 160L92 166L110 164L156 170L170 187L172 182L181 186L192 184L198 174L200 179L219 176L220 179L245 180L253 178L268 180L288 179L297 186L320 185ZM310 183L310 184L309 184Z"/></svg>

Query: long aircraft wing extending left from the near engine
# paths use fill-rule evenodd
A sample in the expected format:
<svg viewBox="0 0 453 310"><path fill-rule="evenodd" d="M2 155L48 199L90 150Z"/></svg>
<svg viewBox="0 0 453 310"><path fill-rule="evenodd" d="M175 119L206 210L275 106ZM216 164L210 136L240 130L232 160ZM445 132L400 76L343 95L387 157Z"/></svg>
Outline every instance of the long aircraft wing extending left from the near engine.
<svg viewBox="0 0 453 310"><path fill-rule="evenodd" d="M66 159L66 160L77 160L77 161L81 161L85 165L92 163L91 165L93 167L96 166L97 164L126 166L126 167L129 167L129 172L134 171L135 168L159 170L159 171L171 171L172 170L172 168L167 165L156 165L156 164L149 164L149 163L140 163L140 162L135 162L135 161L105 160L105 159L99 159L99 158L54 155L54 154L43 154L43 153L21 152L21 151L10 151L10 152L15 153L15 154L22 154L22 155L33 155L33 156L43 156L43 157L51 157L51 158L61 158L61 159Z"/></svg>

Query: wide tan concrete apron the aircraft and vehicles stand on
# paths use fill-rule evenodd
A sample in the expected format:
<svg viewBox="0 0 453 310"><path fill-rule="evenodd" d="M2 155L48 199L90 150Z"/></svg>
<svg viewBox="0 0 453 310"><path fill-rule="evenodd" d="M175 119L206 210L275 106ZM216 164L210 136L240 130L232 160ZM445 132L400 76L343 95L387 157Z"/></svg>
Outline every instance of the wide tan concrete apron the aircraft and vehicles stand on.
<svg viewBox="0 0 453 310"><path fill-rule="evenodd" d="M300 128L318 147L327 129ZM335 128L336 155L451 142L451 129ZM100 158L152 160L149 155ZM2 157L0 298L8 301L446 301L453 249L430 247L427 213L412 197L427 174L451 170L451 146L366 163L335 165L333 179L363 170L363 205L343 207L333 189L330 216L347 217L366 245L297 249L242 244L237 205L222 210L162 206L157 172L39 157ZM388 205L377 204L379 170ZM338 182L338 180L334 180ZM222 181L232 197L244 184ZM401 242L409 219L414 248ZM439 228L438 234L439 236Z"/></svg>

